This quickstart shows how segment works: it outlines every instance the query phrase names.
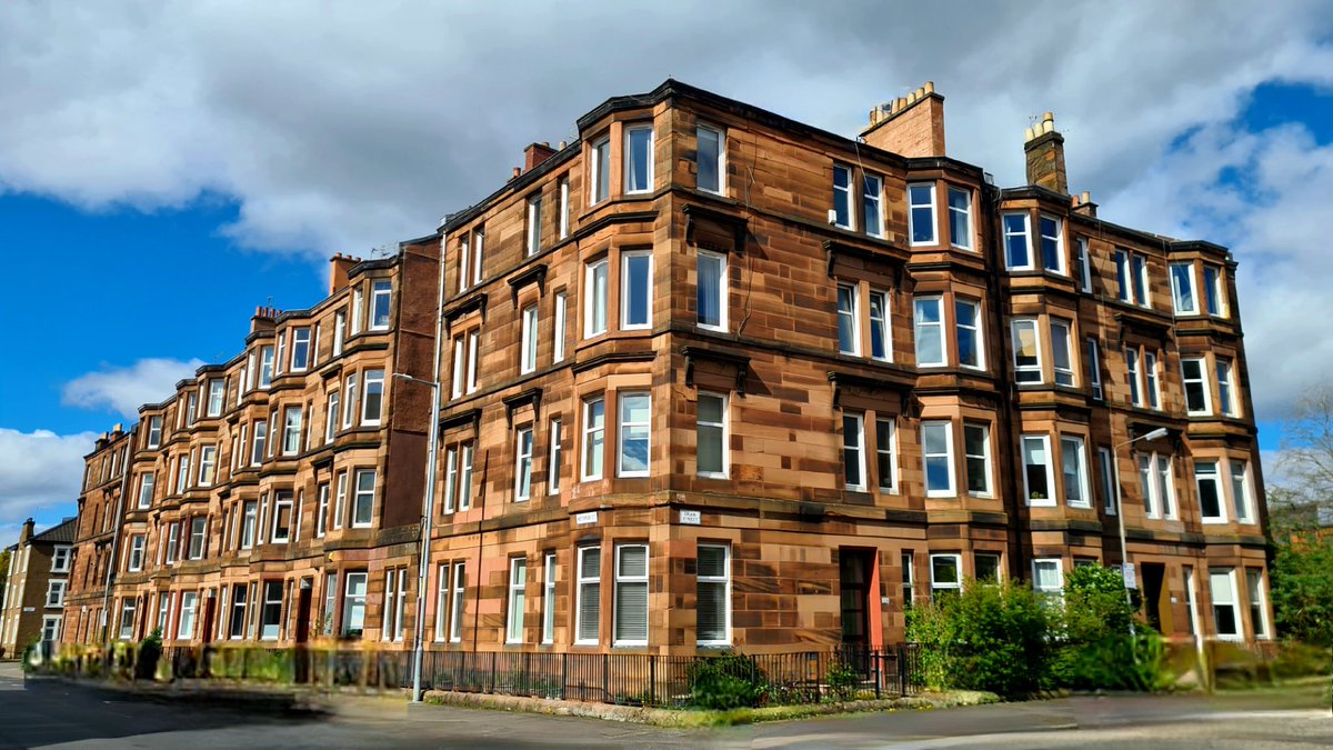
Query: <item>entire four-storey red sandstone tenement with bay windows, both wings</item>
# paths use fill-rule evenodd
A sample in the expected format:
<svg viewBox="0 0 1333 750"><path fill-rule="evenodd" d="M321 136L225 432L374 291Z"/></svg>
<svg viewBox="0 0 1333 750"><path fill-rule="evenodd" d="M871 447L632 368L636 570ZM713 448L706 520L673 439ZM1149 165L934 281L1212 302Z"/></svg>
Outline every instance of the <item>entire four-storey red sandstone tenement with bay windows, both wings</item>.
<svg viewBox="0 0 1333 750"><path fill-rule="evenodd" d="M393 647L420 621L441 651L878 646L902 641L912 601L965 578L1054 593L1074 566L1118 565L1124 520L1164 633L1270 637L1233 259L1098 219L1069 195L1049 116L1028 133L1029 184L993 187L945 156L942 105L918 89L853 140L677 81L615 97L400 263L355 267L355 354L329 351L352 331L333 332L335 311L357 310L337 274L311 311L257 319L245 354L145 407L123 518L80 535L81 565L117 550L111 635L165 622L183 641ZM429 379L437 258L419 618L428 388L387 383ZM380 275L392 323L368 334ZM301 326L320 354L288 375ZM283 375L235 406L264 347ZM328 438L321 415L347 392L361 410L368 370L379 424ZM169 436L147 451L156 415ZM293 451L235 463L265 419ZM213 484L171 484L209 443ZM373 500L356 515L363 471ZM84 514L111 506L105 487ZM85 583L89 602L104 583Z"/></svg>

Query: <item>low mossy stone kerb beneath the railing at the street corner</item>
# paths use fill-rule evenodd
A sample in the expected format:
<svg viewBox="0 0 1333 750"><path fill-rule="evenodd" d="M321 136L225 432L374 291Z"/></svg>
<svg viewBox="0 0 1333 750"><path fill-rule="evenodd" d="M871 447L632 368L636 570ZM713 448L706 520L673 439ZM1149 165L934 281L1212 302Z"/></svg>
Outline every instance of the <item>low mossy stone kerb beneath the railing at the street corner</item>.
<svg viewBox="0 0 1333 750"><path fill-rule="evenodd" d="M453 706L463 709L491 709L501 711L524 711L557 717L585 717L603 721L643 723L663 727L697 726L688 718L704 713L725 714L726 711L689 711L673 709L645 709L640 706L615 706L611 703L589 703L583 701L559 701L551 698L527 698L519 695L495 695L485 693L455 693L449 690L427 690L424 701L428 705ZM885 711L894 709L952 709L956 706L976 706L996 703L1000 698L990 693L946 691L876 701L846 701L838 703L810 703L796 706L774 706L782 711L774 718L800 718L802 715L846 714L857 711ZM752 710L752 721L769 721L764 709ZM796 714L794 717L792 714Z"/></svg>

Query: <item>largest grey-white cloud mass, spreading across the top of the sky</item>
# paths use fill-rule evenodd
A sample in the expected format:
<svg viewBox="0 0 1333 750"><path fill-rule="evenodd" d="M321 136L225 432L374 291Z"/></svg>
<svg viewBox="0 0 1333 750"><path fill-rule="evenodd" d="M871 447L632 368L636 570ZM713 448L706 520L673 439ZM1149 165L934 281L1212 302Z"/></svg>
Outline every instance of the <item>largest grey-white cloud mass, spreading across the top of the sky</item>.
<svg viewBox="0 0 1333 750"><path fill-rule="evenodd" d="M1318 299L1313 274L1257 271L1309 259L1292 218L1326 203L1278 190L1244 219L1248 195L1213 191L1220 163L1312 167L1298 132L1230 123L1265 81L1333 85L1317 0L5 3L0 29L0 108L17 113L0 119L0 192L144 210L213 192L239 202L224 231L241 244L320 255L429 232L524 144L666 76L848 135L933 79L950 153L1001 184L1022 181L1022 128L1053 109L1072 187L1105 216L1237 251L1265 412L1301 380L1273 352L1304 342L1309 370L1333 346L1284 326Z"/></svg>

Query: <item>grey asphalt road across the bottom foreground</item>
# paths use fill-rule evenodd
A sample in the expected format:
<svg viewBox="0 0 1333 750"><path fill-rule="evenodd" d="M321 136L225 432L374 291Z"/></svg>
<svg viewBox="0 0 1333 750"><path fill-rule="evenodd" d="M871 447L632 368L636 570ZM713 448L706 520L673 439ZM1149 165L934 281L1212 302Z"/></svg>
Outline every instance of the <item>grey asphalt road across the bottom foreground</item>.
<svg viewBox="0 0 1333 750"><path fill-rule="evenodd" d="M343 701L335 715L127 699L28 681L0 665L8 747L1333 747L1318 689L1205 697L1076 697L724 730Z"/></svg>

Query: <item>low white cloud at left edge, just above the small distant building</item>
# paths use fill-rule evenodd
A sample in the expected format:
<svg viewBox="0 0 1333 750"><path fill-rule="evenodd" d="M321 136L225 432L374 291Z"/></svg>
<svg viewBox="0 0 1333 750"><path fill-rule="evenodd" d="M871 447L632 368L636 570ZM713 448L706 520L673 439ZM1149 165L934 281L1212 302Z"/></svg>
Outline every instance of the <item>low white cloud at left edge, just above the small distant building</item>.
<svg viewBox="0 0 1333 750"><path fill-rule="evenodd" d="M83 456L96 438L0 427L0 547L19 538L28 516L37 518L40 530L79 512Z"/></svg>

